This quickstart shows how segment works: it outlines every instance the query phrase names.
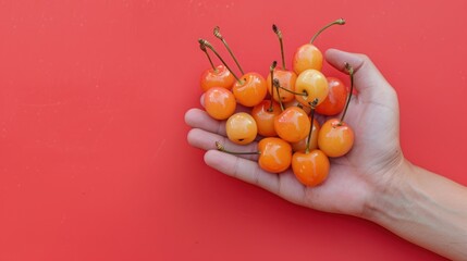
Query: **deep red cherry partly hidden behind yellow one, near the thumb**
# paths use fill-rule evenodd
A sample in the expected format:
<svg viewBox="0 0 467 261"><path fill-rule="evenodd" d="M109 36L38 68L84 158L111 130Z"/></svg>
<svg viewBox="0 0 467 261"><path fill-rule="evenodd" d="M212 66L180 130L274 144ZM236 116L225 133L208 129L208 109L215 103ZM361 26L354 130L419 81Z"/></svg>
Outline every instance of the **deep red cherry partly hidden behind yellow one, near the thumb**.
<svg viewBox="0 0 467 261"><path fill-rule="evenodd" d="M347 98L347 88L341 79L328 77L328 97L316 108L316 112L322 115L336 115L344 110Z"/></svg>

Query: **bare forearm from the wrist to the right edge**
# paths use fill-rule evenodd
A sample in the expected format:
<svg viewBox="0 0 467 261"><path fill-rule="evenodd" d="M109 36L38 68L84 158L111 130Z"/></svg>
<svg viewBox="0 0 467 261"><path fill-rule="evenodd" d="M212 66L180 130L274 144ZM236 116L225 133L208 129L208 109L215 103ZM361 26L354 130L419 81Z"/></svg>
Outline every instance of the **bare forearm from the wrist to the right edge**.
<svg viewBox="0 0 467 261"><path fill-rule="evenodd" d="M406 162L367 219L453 260L467 260L467 188Z"/></svg>

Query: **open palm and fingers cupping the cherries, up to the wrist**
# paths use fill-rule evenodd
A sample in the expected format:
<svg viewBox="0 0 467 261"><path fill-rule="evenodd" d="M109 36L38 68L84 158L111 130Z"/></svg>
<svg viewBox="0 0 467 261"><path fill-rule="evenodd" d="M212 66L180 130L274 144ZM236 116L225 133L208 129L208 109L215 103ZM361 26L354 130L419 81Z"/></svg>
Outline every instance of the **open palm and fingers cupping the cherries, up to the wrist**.
<svg viewBox="0 0 467 261"><path fill-rule="evenodd" d="M327 61L345 72L345 63L354 67L354 96L345 121L355 133L354 147L346 156L330 159L328 179L317 187L306 187L291 170L281 174L262 171L255 156L232 156L217 151L214 141L226 149L255 151L256 142L237 146L225 138L225 122L218 122L199 109L185 114L193 127L188 142L207 150L205 162L228 175L262 187L294 203L325 212L365 217L373 196L396 181L397 169L405 159L398 133L398 103L395 90L373 63L362 54L330 49Z"/></svg>

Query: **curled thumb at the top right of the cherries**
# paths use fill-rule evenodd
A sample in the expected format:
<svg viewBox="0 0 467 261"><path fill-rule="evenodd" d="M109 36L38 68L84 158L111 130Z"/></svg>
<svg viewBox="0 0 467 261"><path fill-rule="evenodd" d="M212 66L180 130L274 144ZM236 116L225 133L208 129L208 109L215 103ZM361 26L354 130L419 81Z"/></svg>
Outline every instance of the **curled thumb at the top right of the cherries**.
<svg viewBox="0 0 467 261"><path fill-rule="evenodd" d="M333 67L344 73L347 73L345 63L354 67L354 85L358 90L359 99L377 101L381 97L388 97L388 95L395 96L392 86L384 79L384 76L367 55L329 49L325 52L325 60Z"/></svg>

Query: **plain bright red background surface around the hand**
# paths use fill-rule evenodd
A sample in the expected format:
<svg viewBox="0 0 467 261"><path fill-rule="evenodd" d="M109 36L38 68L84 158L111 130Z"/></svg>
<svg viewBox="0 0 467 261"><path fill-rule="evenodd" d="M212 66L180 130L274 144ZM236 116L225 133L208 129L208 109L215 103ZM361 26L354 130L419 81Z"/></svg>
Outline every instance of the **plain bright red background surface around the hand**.
<svg viewBox="0 0 467 261"><path fill-rule="evenodd" d="M414 163L467 184L467 2L0 1L0 260L442 260L226 177L186 142L214 25L246 71L317 41L396 88ZM221 53L226 53L222 48ZM342 76L329 65L328 75ZM352 108L351 108L352 109ZM357 134L358 135L358 134Z"/></svg>

